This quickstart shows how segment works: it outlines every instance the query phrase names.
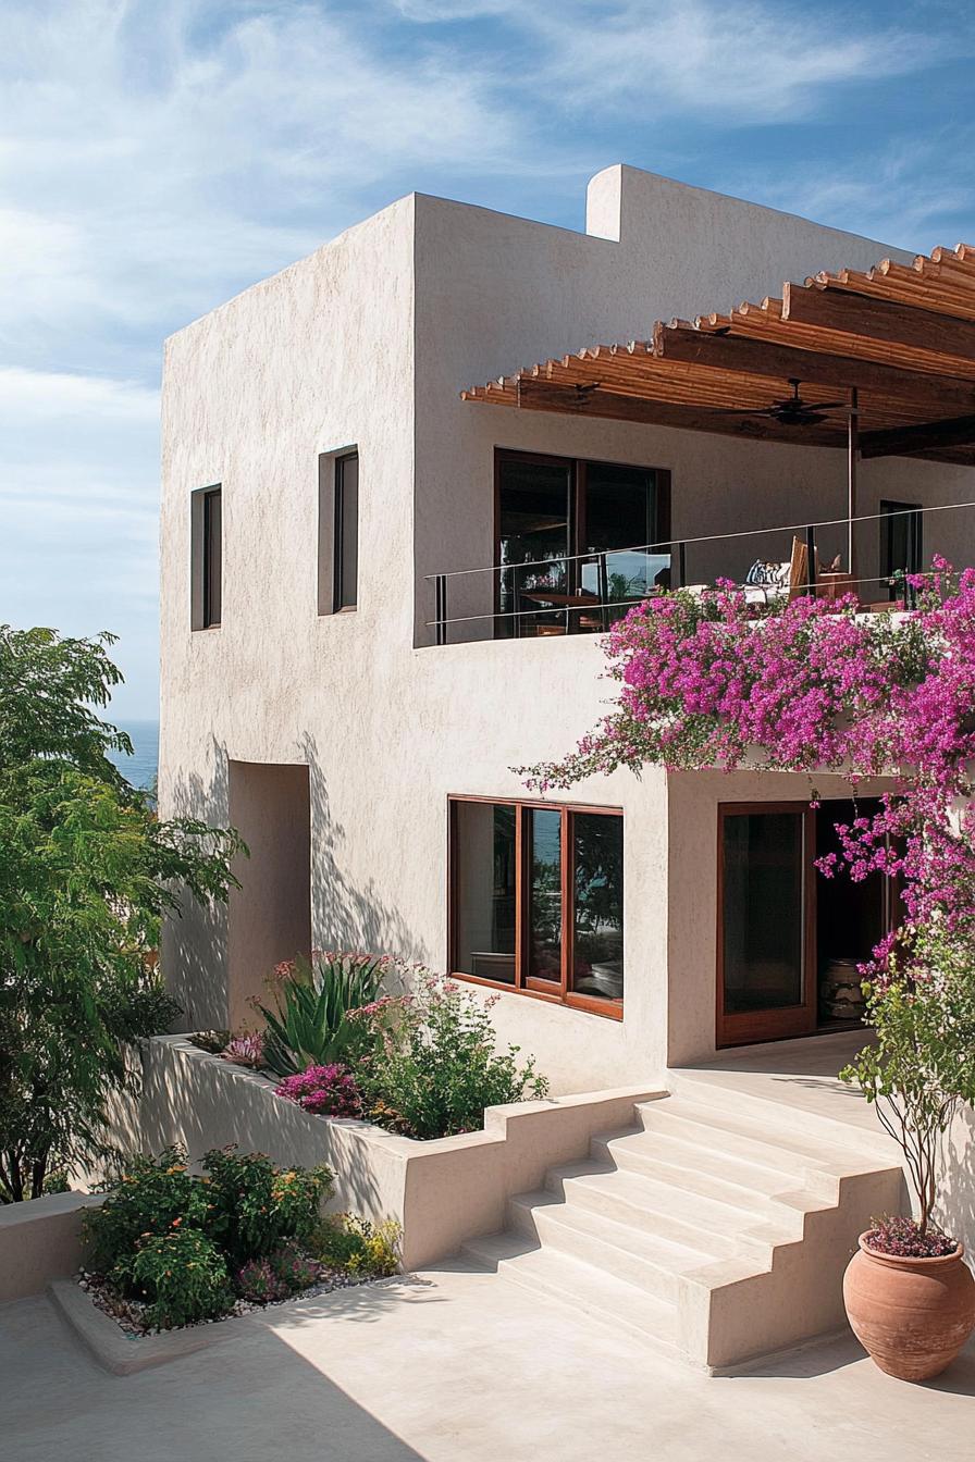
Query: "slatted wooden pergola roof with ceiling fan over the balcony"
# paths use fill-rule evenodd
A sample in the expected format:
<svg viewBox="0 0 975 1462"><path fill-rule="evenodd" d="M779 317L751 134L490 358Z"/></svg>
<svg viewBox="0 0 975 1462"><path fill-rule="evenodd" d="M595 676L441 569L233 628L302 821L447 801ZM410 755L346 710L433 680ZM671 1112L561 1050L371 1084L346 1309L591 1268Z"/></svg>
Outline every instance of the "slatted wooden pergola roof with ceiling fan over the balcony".
<svg viewBox="0 0 975 1462"><path fill-rule="evenodd" d="M585 345L462 398L975 465L975 250L786 282L781 298L658 320L646 339Z"/></svg>

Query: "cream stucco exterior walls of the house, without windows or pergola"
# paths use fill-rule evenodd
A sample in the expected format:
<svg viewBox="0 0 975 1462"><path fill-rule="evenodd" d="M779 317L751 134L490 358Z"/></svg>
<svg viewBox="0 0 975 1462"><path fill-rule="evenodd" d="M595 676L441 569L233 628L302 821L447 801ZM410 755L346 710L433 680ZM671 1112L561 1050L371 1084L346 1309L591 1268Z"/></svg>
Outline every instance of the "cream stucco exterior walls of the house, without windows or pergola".
<svg viewBox="0 0 975 1462"><path fill-rule="evenodd" d="M447 795L522 792L513 768L570 749L610 694L593 639L428 645L424 576L491 561L496 447L668 468L675 535L843 510L841 452L459 401L548 354L890 253L629 168L595 180L591 228L403 199L167 344L161 807L225 822L228 760L307 763L317 944L443 966ZM358 608L317 616L317 458L348 446L360 453ZM868 463L864 503L895 478L890 496L966 496L969 477ZM190 633L189 494L208 482L224 487L224 623ZM664 775L617 773L576 798L624 811L626 1019L510 994L494 1010L557 1092L662 1070L668 956L669 1045L713 1039L713 961L700 940L687 946L699 958L677 958L674 933L706 921L710 868L702 877L691 858L668 871ZM187 1026L225 1023L225 912L171 921L164 965Z"/></svg>

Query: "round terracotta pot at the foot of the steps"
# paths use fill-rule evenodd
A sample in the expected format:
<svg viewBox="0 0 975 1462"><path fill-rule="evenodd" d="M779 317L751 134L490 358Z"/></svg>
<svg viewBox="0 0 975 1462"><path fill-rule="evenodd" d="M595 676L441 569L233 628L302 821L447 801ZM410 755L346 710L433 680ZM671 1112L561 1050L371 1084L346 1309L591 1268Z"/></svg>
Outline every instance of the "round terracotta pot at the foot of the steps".
<svg viewBox="0 0 975 1462"><path fill-rule="evenodd" d="M860 1235L843 1275L854 1335L898 1380L930 1380L955 1360L975 1329L975 1279L959 1244L941 1259L877 1254Z"/></svg>

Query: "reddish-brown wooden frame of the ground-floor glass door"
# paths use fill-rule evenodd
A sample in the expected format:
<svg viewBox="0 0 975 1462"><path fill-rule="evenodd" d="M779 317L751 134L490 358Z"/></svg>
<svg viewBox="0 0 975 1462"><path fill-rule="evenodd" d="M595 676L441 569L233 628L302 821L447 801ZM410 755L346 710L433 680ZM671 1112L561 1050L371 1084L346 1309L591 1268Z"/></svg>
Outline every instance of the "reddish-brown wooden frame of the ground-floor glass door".
<svg viewBox="0 0 975 1462"><path fill-rule="evenodd" d="M792 813L803 826L803 999L778 1010L725 1010L725 819L760 813ZM762 1041L788 1041L816 1032L817 949L816 949L816 808L808 801L718 803L718 923L715 980L715 1044L757 1045Z"/></svg>

